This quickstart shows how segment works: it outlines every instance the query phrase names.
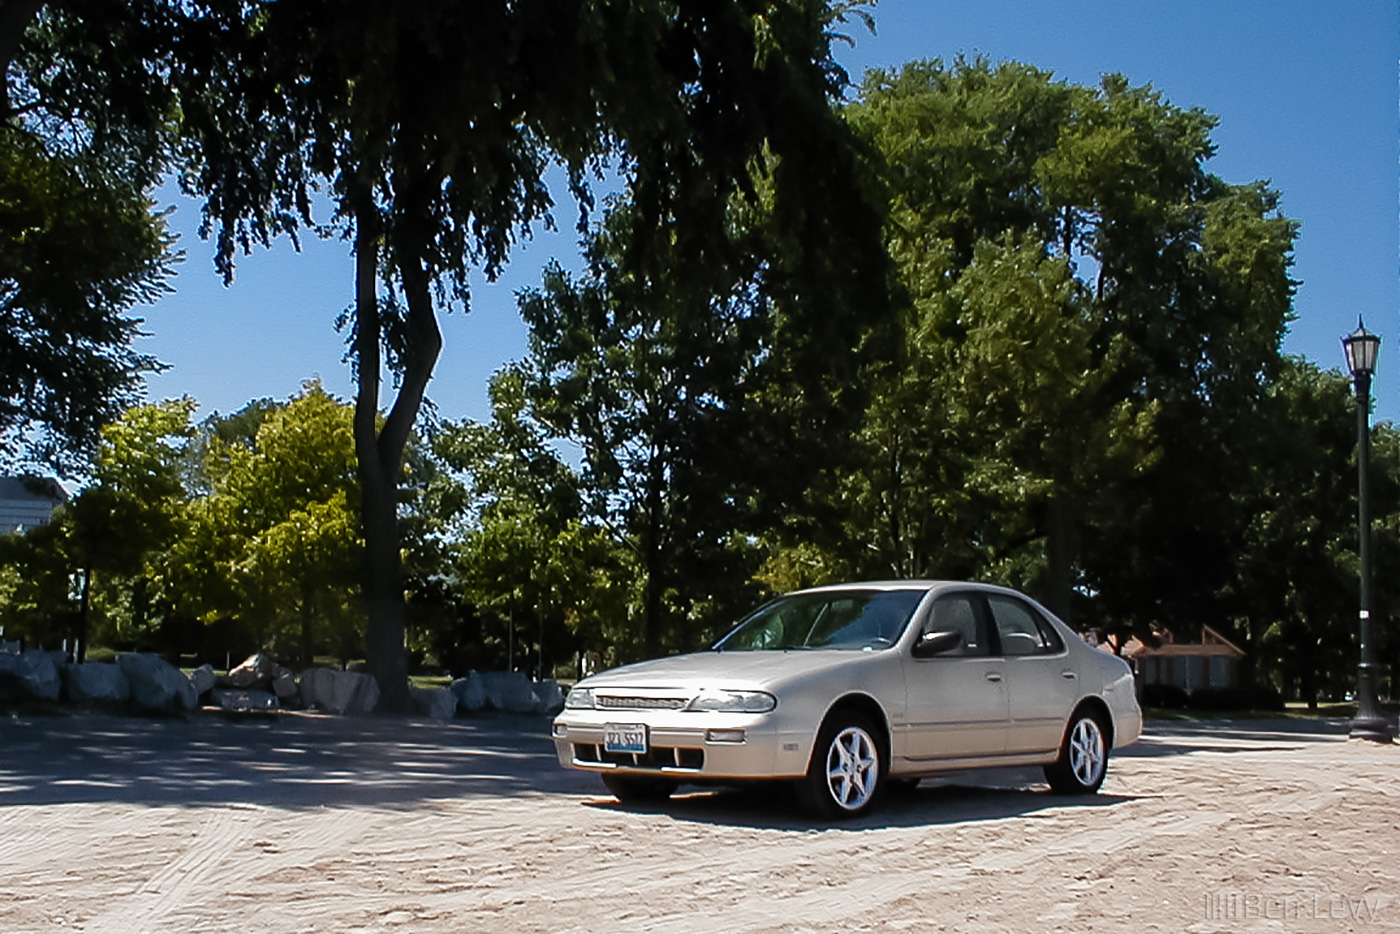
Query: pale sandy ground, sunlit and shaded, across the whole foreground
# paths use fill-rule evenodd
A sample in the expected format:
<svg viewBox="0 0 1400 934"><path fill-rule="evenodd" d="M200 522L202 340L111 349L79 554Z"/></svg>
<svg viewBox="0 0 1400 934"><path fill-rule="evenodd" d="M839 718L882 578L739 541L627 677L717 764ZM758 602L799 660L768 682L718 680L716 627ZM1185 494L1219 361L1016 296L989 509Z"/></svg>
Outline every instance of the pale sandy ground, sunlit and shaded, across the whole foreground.
<svg viewBox="0 0 1400 934"><path fill-rule="evenodd" d="M1149 724L1103 793L976 773L811 826L617 805L542 718L0 721L0 933L1397 931L1400 746Z"/></svg>

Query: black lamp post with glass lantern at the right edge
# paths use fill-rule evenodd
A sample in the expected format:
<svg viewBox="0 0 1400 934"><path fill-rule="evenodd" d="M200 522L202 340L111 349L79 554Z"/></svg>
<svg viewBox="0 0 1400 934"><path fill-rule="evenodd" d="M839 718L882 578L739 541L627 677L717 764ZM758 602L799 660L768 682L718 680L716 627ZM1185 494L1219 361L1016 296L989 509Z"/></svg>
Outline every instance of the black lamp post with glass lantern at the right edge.
<svg viewBox="0 0 1400 934"><path fill-rule="evenodd" d="M1347 368L1357 384L1357 518L1361 559L1361 664L1357 665L1357 718L1351 735L1357 739L1390 742L1390 724L1376 706L1376 647L1371 632L1371 375L1376 371L1380 335L1366 330L1357 319L1357 329L1341 339Z"/></svg>

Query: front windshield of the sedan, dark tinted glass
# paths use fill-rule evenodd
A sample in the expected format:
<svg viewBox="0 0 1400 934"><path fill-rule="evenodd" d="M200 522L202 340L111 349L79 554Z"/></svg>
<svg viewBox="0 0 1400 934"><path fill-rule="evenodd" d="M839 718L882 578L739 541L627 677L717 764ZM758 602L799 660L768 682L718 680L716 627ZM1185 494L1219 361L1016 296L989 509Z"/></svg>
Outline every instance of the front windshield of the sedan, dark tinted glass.
<svg viewBox="0 0 1400 934"><path fill-rule="evenodd" d="M714 647L717 651L888 648L904 632L923 595L914 590L791 594L753 611Z"/></svg>

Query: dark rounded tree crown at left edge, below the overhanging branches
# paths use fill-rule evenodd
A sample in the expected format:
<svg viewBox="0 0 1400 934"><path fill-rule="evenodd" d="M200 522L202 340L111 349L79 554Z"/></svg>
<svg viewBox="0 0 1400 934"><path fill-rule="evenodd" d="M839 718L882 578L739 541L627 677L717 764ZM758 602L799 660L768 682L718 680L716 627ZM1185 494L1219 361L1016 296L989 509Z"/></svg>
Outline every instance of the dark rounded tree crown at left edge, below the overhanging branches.
<svg viewBox="0 0 1400 934"><path fill-rule="evenodd" d="M71 472L94 454L158 368L129 312L172 260L137 185L0 123L0 461Z"/></svg>

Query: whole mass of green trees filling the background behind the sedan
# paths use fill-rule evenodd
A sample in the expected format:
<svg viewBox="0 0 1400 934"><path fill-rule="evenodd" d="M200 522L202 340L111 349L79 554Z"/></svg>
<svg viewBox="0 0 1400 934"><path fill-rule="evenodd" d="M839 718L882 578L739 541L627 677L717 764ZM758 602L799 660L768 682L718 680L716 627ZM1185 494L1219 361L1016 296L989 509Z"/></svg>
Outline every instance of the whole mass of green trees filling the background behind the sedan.
<svg viewBox="0 0 1400 934"><path fill-rule="evenodd" d="M6 618L70 613L81 571L73 619L363 639L403 706L406 633L466 658L504 616L514 657L529 618L543 669L546 641L693 647L766 588L976 577L1120 644L1210 622L1260 676L1338 690L1345 381L1280 353L1278 193L1212 175L1215 118L1120 76L914 62L841 104L829 46L861 14L0 0L0 455L97 452L4 543ZM225 277L279 235L351 244L353 406L130 407L169 168ZM491 421L421 424L438 314L559 210L582 267L521 295ZM1390 553L1389 426L1375 449Z"/></svg>

